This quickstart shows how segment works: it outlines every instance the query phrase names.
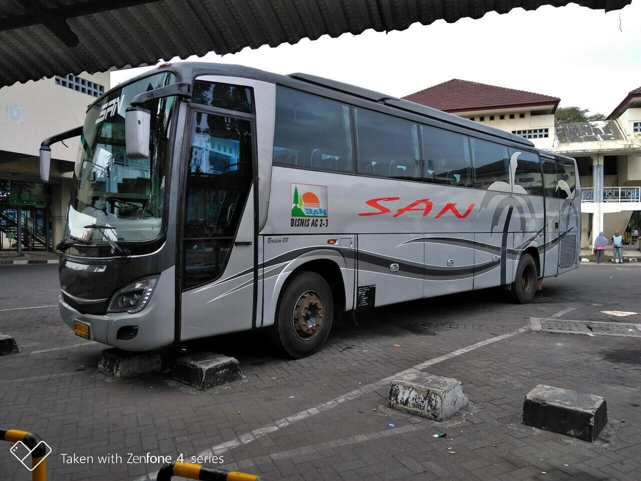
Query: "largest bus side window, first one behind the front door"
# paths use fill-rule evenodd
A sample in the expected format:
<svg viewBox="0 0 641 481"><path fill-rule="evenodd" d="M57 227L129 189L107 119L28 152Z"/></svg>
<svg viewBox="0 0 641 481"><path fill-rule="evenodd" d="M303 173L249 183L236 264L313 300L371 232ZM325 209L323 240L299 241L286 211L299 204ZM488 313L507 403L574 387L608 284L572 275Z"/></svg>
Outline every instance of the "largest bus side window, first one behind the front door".
<svg viewBox="0 0 641 481"><path fill-rule="evenodd" d="M353 172L349 106L276 87L274 165Z"/></svg>

